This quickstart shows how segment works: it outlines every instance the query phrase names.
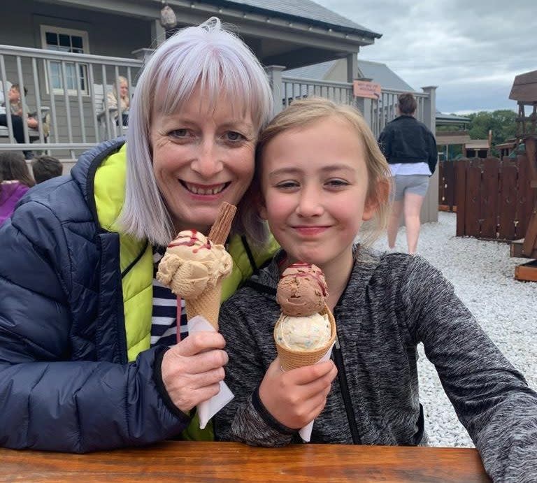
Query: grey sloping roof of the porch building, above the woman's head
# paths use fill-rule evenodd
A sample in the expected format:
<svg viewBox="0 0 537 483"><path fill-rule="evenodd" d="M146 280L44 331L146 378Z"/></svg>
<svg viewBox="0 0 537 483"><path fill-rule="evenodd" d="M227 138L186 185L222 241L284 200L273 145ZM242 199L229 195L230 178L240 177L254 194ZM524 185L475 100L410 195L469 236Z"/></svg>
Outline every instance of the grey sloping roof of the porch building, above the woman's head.
<svg viewBox="0 0 537 483"><path fill-rule="evenodd" d="M328 8L324 8L311 0L226 0L214 3L240 4L241 6L250 7L254 10L262 10L266 13L273 12L283 14L287 17L294 17L296 20L313 20L314 22L336 27L336 29L343 27L343 29L350 31L359 31L375 38L382 36L382 34L377 34L370 29L366 29L366 27L352 22L352 20L332 12Z"/></svg>

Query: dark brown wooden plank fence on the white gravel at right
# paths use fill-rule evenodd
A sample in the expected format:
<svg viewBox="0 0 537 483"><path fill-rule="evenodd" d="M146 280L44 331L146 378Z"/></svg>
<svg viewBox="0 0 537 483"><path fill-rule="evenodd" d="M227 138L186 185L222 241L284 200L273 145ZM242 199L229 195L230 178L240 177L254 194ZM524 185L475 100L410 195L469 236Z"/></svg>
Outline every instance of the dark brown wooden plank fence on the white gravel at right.
<svg viewBox="0 0 537 483"><path fill-rule="evenodd" d="M489 240L517 240L526 233L534 196L525 155L443 161L444 194L457 206L457 236ZM450 171L452 170L452 171ZM441 171L442 173L442 171ZM452 176L452 178L449 178ZM439 182L442 184L442 178ZM439 195L440 197L441 195Z"/></svg>

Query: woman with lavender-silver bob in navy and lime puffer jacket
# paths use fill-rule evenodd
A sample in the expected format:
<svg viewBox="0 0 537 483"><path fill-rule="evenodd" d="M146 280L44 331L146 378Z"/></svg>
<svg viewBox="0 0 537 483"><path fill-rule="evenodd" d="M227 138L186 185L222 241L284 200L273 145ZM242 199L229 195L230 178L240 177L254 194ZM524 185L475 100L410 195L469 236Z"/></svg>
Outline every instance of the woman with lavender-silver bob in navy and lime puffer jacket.
<svg viewBox="0 0 537 483"><path fill-rule="evenodd" d="M155 51L126 143L102 143L24 197L0 231L0 445L145 445L178 436L217 394L224 339L187 337L155 263L178 231L208 233L223 201L239 213L222 297L271 257L241 236L262 225L239 203L271 109L262 66L212 18Z"/></svg>

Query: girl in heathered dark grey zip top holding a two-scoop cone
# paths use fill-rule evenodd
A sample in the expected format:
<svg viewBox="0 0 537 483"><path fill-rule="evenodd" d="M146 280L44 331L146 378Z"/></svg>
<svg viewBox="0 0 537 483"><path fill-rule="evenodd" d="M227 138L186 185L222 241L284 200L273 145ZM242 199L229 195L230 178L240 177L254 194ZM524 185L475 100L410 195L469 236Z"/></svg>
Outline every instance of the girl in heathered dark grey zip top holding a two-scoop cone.
<svg viewBox="0 0 537 483"><path fill-rule="evenodd" d="M315 419L312 442L424 445L422 342L489 475L537 474L537 394L452 285L420 257L353 244L364 220L384 225L389 204L389 168L359 113L295 101L260 136L257 163L252 193L282 250L222 306L235 398L217 414L217 438L282 446ZM284 373L275 288L296 261L324 271L338 338L334 361Z"/></svg>

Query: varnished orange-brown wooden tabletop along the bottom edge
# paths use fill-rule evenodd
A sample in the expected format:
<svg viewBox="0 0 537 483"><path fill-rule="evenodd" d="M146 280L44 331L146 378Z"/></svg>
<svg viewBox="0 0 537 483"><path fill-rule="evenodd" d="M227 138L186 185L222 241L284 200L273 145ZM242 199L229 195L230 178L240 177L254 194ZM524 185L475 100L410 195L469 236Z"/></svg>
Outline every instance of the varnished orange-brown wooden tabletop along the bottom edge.
<svg viewBox="0 0 537 483"><path fill-rule="evenodd" d="M0 481L489 482L468 448L163 442L91 454L0 449Z"/></svg>

